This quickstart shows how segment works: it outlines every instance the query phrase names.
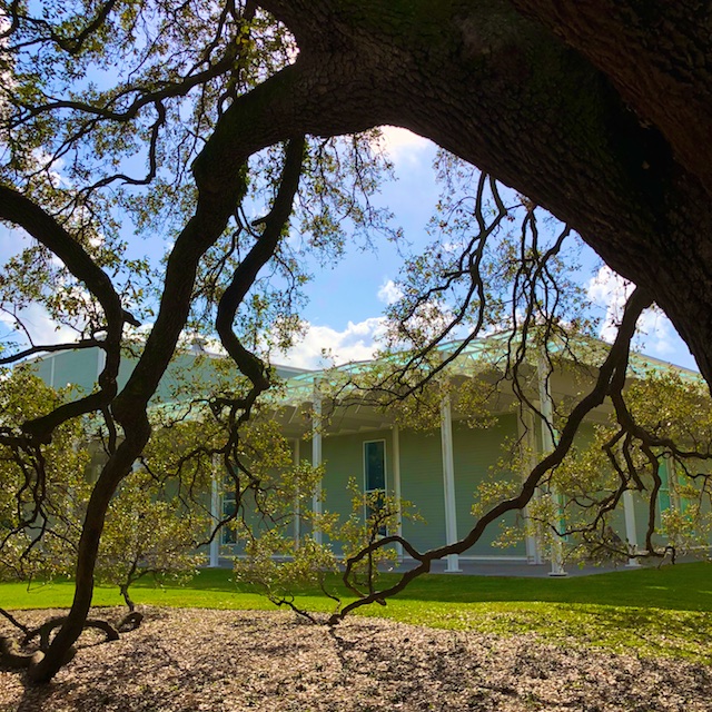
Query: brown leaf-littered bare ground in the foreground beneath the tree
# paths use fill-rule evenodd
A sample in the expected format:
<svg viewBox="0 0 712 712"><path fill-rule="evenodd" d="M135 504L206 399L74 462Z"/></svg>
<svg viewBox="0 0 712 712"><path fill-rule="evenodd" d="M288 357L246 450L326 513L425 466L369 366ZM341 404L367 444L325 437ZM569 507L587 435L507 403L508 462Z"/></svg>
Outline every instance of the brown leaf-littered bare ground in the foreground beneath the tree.
<svg viewBox="0 0 712 712"><path fill-rule="evenodd" d="M380 619L329 630L279 612L145 612L144 625L117 642L92 644L87 634L49 685L27 686L23 673L0 669L0 710L712 711L712 670L685 662Z"/></svg>

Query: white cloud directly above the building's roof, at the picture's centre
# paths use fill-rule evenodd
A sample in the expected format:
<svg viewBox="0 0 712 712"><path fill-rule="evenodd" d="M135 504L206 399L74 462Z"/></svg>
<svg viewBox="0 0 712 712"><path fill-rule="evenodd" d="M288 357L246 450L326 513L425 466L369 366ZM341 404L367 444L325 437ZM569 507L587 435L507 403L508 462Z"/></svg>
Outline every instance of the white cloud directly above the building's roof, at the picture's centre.
<svg viewBox="0 0 712 712"><path fill-rule="evenodd" d="M323 368L332 364L366 360L374 357L377 339L385 333L383 317L372 317L343 332L329 326L307 324L304 337L287 353L274 355L274 362L298 368Z"/></svg>

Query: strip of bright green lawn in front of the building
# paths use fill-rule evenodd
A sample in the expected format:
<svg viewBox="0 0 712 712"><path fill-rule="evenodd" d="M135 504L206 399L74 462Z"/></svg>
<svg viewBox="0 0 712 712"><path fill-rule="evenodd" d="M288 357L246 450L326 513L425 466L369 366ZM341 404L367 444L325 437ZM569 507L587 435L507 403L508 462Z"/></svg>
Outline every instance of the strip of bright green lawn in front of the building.
<svg viewBox="0 0 712 712"><path fill-rule="evenodd" d="M383 583L395 581L384 574ZM338 587L334 577L329 583ZM71 582L0 585L6 609L67 607ZM343 593L343 592L342 592ZM139 604L179 607L270 610L248 586L235 585L228 570L206 568L186 586L132 590ZM344 596L344 601L352 599ZM305 590L298 602L313 611L333 603ZM117 589L98 586L95 605L121 605ZM645 656L688 657L712 663L712 564L620 571L572 578L505 578L428 574L387 606L359 614L434 627L514 635L531 633L565 645L593 645Z"/></svg>

